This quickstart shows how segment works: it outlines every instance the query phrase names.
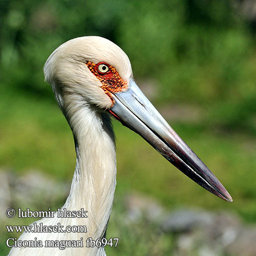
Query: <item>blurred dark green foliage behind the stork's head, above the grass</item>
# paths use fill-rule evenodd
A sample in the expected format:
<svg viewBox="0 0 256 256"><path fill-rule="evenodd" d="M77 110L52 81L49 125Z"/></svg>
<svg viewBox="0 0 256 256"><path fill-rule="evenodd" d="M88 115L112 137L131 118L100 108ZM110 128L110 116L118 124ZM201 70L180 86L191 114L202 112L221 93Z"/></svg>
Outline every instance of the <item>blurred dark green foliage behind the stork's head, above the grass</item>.
<svg viewBox="0 0 256 256"><path fill-rule="evenodd" d="M209 111L206 123L255 131L254 35L233 1L1 1L1 71L8 89L49 98L42 67L68 39L100 35L154 78L156 102ZM52 99L52 98L51 98Z"/></svg>

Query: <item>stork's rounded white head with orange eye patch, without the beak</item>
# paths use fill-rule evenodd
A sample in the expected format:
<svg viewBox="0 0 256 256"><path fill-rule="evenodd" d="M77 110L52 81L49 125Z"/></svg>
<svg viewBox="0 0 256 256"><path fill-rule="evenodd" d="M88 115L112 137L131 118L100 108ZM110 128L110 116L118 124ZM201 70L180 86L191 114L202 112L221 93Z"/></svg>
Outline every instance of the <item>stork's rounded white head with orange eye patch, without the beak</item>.
<svg viewBox="0 0 256 256"><path fill-rule="evenodd" d="M63 97L81 96L83 102L108 110L114 103L109 92L121 92L133 77L129 58L108 39L78 37L65 42L48 58L45 78L61 108Z"/></svg>

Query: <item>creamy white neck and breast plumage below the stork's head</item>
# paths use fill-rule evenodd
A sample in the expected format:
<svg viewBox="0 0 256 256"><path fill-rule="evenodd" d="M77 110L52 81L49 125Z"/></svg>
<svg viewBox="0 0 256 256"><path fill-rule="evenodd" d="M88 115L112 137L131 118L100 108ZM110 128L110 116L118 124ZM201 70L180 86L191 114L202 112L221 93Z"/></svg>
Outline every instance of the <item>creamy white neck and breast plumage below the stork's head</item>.
<svg viewBox="0 0 256 256"><path fill-rule="evenodd" d="M83 208L87 218L43 218L36 221L46 226L86 226L87 232L24 232L19 240L83 241L83 247L13 247L9 255L105 255L104 247L87 247L86 240L96 241L104 236L111 214L116 186L115 139L110 117L91 105L84 103L79 96L56 95L60 108L73 131L76 145L76 168L71 184L70 195L63 205L67 211ZM65 102L65 104L64 104ZM34 223L34 224L35 224ZM33 225L33 224L32 224Z"/></svg>

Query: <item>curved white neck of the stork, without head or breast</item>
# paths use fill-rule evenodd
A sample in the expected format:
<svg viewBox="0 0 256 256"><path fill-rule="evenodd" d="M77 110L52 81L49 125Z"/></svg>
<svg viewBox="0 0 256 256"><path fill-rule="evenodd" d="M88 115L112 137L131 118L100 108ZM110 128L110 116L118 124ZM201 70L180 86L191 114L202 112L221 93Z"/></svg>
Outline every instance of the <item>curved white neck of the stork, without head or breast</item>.
<svg viewBox="0 0 256 256"><path fill-rule="evenodd" d="M66 117L74 134L77 159L70 195L63 208L88 211L88 218L77 221L87 226L86 237L96 240L104 236L114 199L114 133L110 117L92 106L76 103L66 109L69 110Z"/></svg>

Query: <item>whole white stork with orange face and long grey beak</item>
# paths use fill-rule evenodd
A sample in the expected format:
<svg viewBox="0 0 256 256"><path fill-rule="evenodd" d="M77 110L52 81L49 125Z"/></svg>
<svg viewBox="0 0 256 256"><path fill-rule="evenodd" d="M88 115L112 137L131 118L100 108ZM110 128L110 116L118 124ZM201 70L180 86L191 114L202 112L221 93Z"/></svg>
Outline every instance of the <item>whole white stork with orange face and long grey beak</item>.
<svg viewBox="0 0 256 256"><path fill-rule="evenodd" d="M75 141L75 172L61 209L83 208L88 213L87 218L60 218L55 214L35 223L60 223L64 228L86 226L87 232L25 232L18 241L36 239L42 241L43 247L13 247L9 255L105 255L104 247L86 247L85 241L105 236L112 210L116 154L110 116L142 136L190 179L232 201L219 180L140 91L129 58L113 42L98 36L71 39L50 55L44 73ZM49 240L82 240L83 247L45 247L44 242Z"/></svg>

